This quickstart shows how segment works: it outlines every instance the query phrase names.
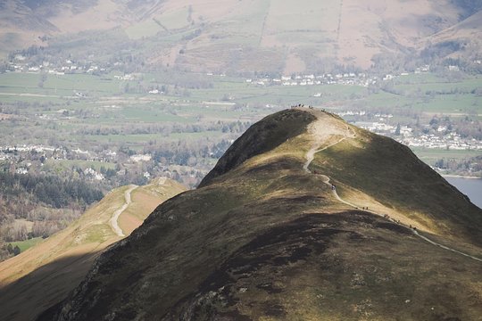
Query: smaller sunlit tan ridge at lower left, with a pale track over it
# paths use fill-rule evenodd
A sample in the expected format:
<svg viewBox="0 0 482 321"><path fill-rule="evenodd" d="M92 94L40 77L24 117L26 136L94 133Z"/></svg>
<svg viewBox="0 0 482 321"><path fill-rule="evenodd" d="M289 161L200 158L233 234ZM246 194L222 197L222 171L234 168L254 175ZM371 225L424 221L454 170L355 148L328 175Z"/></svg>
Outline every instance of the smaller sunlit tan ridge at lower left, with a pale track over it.
<svg viewBox="0 0 482 321"><path fill-rule="evenodd" d="M0 263L0 320L35 319L71 292L99 254L122 239L114 233L110 219L124 204L124 193L134 187L113 190L71 226ZM156 206L185 190L165 178L133 189L132 202L119 218L123 233L129 235Z"/></svg>

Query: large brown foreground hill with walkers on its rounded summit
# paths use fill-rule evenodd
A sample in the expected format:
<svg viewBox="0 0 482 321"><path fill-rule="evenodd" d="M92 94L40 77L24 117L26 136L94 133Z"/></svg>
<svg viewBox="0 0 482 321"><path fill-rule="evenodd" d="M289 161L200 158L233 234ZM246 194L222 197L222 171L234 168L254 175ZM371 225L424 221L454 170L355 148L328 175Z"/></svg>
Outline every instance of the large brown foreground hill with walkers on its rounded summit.
<svg viewBox="0 0 482 321"><path fill-rule="evenodd" d="M358 167L343 168L352 159ZM380 183L385 167L403 171L398 181ZM356 174L363 179L352 186ZM325 175L376 212L340 202ZM427 191L423 205L419 185L444 197ZM445 206L466 212L439 213ZM280 111L248 129L202 187L164 202L105 251L38 320L478 320L482 263L422 240L386 212L481 256L480 232L470 228L482 227L481 210L405 147L325 112Z"/></svg>

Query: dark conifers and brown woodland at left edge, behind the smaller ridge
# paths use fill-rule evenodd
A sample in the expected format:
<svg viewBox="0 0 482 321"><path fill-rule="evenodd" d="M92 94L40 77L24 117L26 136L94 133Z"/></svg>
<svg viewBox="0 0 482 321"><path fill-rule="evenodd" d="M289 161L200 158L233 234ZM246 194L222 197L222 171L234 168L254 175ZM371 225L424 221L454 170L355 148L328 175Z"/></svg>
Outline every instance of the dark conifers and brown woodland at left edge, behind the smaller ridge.
<svg viewBox="0 0 482 321"><path fill-rule="evenodd" d="M0 172L0 190L0 260L18 254L7 243L52 235L104 197L80 179L8 172Z"/></svg>

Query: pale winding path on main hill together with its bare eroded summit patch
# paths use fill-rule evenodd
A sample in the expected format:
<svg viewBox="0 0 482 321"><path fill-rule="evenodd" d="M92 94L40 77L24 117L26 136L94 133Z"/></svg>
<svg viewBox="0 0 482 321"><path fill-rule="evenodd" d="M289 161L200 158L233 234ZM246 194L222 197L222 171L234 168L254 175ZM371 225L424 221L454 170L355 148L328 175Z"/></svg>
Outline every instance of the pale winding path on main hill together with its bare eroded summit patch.
<svg viewBox="0 0 482 321"><path fill-rule="evenodd" d="M315 155L315 153L317 153L317 152L322 152L322 151L328 149L329 147L335 146L336 144L339 144L339 143L343 142L346 138L354 138L354 137L355 137L355 135L354 135L354 133L351 131L351 129L348 128L348 127L346 127L347 132L345 132L345 133L348 134L347 136L344 136L344 137L340 138L339 140L337 140L337 142L335 142L335 143L333 143L333 144L328 144L327 146L319 149L319 148L320 148L320 145L323 144L323 142L322 142L322 141L324 140L323 138L325 138L325 137L328 135L328 131L329 131L330 129L333 130L333 128L322 128L322 129L321 129L321 132L320 132L320 127L317 126L317 123L318 123L318 122L319 122L319 120L316 120L316 121L314 122L314 124L308 129L309 132L311 132L311 134L312 134L314 137L316 137L316 139L315 139L315 145L314 145L308 152L306 152L306 161L305 161L305 163L303 164L303 169L304 169L307 173L310 173L310 174L312 174L312 171L311 171L310 169L308 169L308 168L309 168L310 164L312 163L312 161L314 160L314 155ZM337 133L331 133L331 135L337 135L337 134L341 134L341 133L339 133L339 132L337 132ZM345 134L345 135L346 135L346 134ZM329 183L329 177L328 177L328 176L326 176L326 175L320 175L320 174L318 174L318 175L319 175L320 177L322 177L323 183L325 183L325 184L329 185L330 187L332 187L331 183ZM354 204L351 203L351 202L346 202L345 200L343 200L343 199L338 195L336 188L332 188L332 192L333 192L333 195L335 196L335 198L336 198L339 202L343 202L344 204L346 204L346 205L348 205L348 206L350 206L350 207L353 207L354 209L357 209L357 210L358 210L358 206L354 205ZM372 210L365 210L365 211L368 211L368 212L370 212L370 213L372 213L372 214L375 214L375 215L384 217L384 215L382 215L382 214L380 214L380 213L378 213L378 212L372 211ZM463 255L463 256L465 256L465 257L468 257L468 258L470 258L470 259L475 259L475 260L477 260L477 261L479 261L479 262L482 262L482 259L478 259L478 258L476 258L476 257L474 257L474 256L472 256L472 255L470 255L470 254L467 254L467 253L464 253L464 252L461 252L461 251L454 250L453 248L450 248L450 247L445 246L445 245L440 244L440 243L436 243L436 242L430 240L427 236L420 235L419 232L418 232L416 229L412 229L412 228L410 228L410 227L408 227L408 226L405 226L405 225L401 224L399 221L395 221L395 219L391 219L391 218L388 218L388 219L389 219L390 221L394 222L395 224L398 224L398 225L400 225L400 226L404 226L404 227L410 229L411 232L412 232L414 235L419 236L422 240L424 240L424 241L426 241L426 242L428 242L428 243L431 243L431 244L433 244L433 245L436 245L436 246L438 246L438 247L440 247L440 248L442 248L442 249L445 249L445 250L447 250L447 251L453 251L453 252L455 252L455 253L461 254L461 255Z"/></svg>

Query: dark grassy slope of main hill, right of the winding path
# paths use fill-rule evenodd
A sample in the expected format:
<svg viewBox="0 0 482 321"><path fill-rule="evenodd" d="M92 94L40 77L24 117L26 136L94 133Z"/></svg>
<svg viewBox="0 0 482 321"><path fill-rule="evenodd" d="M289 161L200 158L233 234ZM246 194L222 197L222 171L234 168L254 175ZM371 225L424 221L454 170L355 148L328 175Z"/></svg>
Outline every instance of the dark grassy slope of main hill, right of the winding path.
<svg viewBox="0 0 482 321"><path fill-rule="evenodd" d="M354 139L315 155L312 169L331 178L339 194L360 208L373 204L361 199L362 191L372 200L412 220L415 226L436 234L482 245L480 210L448 184L408 147L391 138L353 128ZM451 195L451 202L446 202Z"/></svg>

